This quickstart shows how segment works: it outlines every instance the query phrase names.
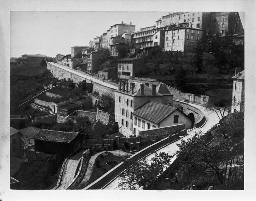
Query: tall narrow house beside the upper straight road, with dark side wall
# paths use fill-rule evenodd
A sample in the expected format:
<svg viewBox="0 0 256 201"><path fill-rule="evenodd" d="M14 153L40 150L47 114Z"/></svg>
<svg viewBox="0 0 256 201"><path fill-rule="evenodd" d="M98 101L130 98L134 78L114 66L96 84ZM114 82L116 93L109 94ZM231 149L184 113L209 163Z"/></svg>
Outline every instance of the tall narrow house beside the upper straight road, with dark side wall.
<svg viewBox="0 0 256 201"><path fill-rule="evenodd" d="M99 52L91 51L87 59L87 73L93 74L97 72L97 68L100 64L100 59L108 56L107 54L102 54Z"/></svg>

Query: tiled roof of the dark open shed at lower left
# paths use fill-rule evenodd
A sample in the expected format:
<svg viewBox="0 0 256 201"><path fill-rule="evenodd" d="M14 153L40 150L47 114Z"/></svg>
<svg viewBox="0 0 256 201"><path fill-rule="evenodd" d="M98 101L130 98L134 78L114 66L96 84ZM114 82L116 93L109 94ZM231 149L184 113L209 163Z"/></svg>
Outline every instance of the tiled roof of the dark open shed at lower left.
<svg viewBox="0 0 256 201"><path fill-rule="evenodd" d="M37 134L33 136L34 139L50 141L50 142L71 142L79 133L71 133L64 131L53 131L47 129L41 129Z"/></svg>

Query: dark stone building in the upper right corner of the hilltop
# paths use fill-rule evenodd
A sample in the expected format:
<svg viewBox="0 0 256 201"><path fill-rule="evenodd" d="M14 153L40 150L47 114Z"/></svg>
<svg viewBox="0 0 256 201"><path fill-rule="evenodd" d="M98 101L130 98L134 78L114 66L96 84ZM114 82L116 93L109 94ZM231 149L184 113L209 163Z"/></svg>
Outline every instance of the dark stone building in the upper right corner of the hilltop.
<svg viewBox="0 0 256 201"><path fill-rule="evenodd" d="M238 12L212 12L211 34L243 34L244 28Z"/></svg>

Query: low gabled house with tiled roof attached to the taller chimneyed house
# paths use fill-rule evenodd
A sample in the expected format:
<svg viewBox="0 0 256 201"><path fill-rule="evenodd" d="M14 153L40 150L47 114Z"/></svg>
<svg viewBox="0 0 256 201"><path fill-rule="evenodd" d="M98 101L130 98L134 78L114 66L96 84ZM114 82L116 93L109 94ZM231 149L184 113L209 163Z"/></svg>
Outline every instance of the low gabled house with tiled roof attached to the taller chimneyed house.
<svg viewBox="0 0 256 201"><path fill-rule="evenodd" d="M140 131L185 124L193 128L194 122L178 108L155 101L148 101L133 112L133 135Z"/></svg>

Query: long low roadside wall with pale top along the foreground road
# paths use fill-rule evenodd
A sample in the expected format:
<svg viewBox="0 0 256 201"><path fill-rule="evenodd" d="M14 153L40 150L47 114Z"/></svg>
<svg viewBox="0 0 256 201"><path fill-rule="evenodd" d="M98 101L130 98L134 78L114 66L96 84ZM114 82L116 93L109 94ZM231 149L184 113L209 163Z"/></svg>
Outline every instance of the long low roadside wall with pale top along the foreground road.
<svg viewBox="0 0 256 201"><path fill-rule="evenodd" d="M174 138L174 137L173 137ZM180 138L178 138L180 139ZM173 142L177 141L178 139L173 139ZM158 141L144 149L142 149L141 151L137 152L136 154L132 155L130 157L130 159L133 160L139 160L142 159L143 157L147 156L148 154L158 150L159 148L165 146L168 144L168 137ZM90 185L88 185L87 187L85 187L85 190L89 190L89 189L103 189L111 180L113 180L115 177L117 177L123 170L125 170L125 165L124 163L119 163L117 166L115 166L114 168L112 168L111 170L109 170L107 173L105 173L104 175L102 175L100 178L98 178L96 181L92 182Z"/></svg>

